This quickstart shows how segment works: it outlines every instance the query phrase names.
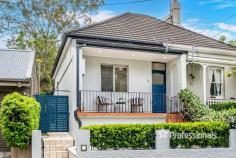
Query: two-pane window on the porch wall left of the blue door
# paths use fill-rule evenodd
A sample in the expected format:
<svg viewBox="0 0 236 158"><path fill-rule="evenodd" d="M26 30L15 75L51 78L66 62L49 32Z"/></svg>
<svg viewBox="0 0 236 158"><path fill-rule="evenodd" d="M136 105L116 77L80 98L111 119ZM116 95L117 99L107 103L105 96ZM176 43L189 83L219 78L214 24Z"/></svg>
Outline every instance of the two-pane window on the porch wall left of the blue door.
<svg viewBox="0 0 236 158"><path fill-rule="evenodd" d="M102 91L127 92L127 66L101 65Z"/></svg>

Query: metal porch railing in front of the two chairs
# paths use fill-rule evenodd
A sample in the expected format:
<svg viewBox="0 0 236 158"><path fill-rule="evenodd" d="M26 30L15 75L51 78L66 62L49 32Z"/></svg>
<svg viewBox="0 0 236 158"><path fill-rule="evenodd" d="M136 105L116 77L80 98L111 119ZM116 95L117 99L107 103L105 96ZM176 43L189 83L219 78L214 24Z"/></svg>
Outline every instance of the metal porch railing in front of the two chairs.
<svg viewBox="0 0 236 158"><path fill-rule="evenodd" d="M166 94L80 91L80 112L165 113Z"/></svg>

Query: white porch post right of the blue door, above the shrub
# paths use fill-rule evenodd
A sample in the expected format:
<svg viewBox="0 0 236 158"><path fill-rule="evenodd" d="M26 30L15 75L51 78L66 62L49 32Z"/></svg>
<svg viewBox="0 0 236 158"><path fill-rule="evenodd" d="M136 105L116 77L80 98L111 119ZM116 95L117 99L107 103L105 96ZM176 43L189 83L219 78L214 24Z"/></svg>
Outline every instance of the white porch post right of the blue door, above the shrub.
<svg viewBox="0 0 236 158"><path fill-rule="evenodd" d="M186 73L187 73L187 71L186 71L187 62L186 62L186 58L187 58L186 54L182 54L179 57L179 61L178 61L178 71L179 71L178 90L187 88L187 77L186 77L187 76L186 75Z"/></svg>

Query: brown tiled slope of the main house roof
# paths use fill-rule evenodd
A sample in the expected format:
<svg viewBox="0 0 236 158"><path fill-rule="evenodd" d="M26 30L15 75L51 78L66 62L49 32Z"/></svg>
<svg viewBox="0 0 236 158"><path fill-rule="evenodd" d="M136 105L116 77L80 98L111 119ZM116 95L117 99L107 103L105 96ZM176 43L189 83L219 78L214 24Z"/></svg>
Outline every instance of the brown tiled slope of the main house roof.
<svg viewBox="0 0 236 158"><path fill-rule="evenodd" d="M228 44L151 16L125 13L70 33L81 36L236 50Z"/></svg>

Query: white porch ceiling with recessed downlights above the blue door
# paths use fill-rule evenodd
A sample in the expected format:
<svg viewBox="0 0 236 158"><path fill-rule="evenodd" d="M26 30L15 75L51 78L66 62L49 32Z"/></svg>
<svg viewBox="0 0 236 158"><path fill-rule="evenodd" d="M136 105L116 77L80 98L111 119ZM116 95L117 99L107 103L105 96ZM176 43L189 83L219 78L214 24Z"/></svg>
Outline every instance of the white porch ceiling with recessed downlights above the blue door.
<svg viewBox="0 0 236 158"><path fill-rule="evenodd" d="M178 57L178 55L161 54L158 52L151 53L151 52L128 51L121 49L94 48L94 47L84 47L83 55L119 58L119 59L146 60L146 61L164 62L164 63L167 63Z"/></svg>

